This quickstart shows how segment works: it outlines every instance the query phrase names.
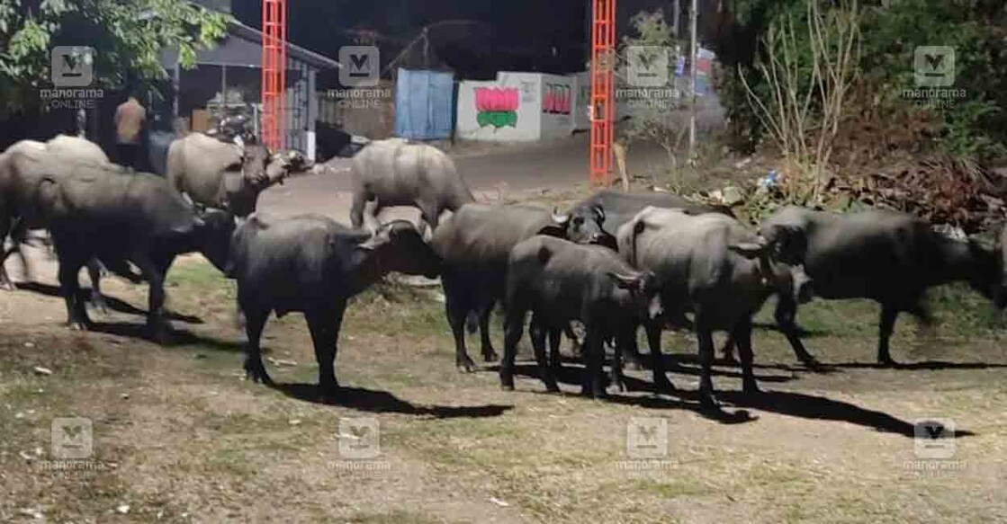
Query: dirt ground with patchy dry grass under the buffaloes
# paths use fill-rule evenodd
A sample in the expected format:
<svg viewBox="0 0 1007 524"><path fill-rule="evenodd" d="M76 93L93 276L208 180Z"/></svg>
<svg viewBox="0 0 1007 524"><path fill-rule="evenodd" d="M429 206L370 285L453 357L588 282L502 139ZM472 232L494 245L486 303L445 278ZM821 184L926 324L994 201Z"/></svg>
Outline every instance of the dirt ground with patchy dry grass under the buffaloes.
<svg viewBox="0 0 1007 524"><path fill-rule="evenodd" d="M320 183L302 180L271 191L267 208L293 212L270 202L297 184L310 192ZM557 203L579 190L519 196ZM320 196L303 202L296 208L338 214ZM112 312L92 314L94 331L68 331L53 276L51 264L40 264L36 284L0 295L0 522L877 523L1007 515L1007 331L959 288L933 293L932 330L898 325L893 356L907 365L897 369L873 364L874 305L817 301L802 309L810 350L830 364L812 372L771 329L770 304L755 336L763 393L742 394L739 370L718 365L724 407L707 411L695 394L695 340L684 334L665 337L677 395L654 393L649 371L630 371L628 391L583 399L572 356L563 393L549 394L527 347L517 390L502 391L494 364L467 374L454 368L439 288L391 282L350 305L336 359L344 391L323 401L296 314L266 329L278 387L244 379L234 285L199 256L179 259L169 274L177 332L166 346L142 338L146 289L116 279L105 282ZM493 329L499 346L498 322ZM475 358L477 343L469 344ZM956 436L916 439L918 419L944 420ZM920 448L934 443L942 448Z"/></svg>

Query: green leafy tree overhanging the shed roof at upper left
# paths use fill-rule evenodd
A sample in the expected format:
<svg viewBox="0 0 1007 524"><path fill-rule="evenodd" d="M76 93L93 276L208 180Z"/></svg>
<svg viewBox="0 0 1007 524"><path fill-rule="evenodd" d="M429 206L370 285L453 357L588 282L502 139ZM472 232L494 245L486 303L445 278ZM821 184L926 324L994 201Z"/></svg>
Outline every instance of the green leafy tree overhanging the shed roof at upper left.
<svg viewBox="0 0 1007 524"><path fill-rule="evenodd" d="M177 48L182 66L192 66L196 51L221 39L230 20L183 0L0 2L0 118L38 106L55 45L94 47L95 85L121 88L165 77L165 48Z"/></svg>

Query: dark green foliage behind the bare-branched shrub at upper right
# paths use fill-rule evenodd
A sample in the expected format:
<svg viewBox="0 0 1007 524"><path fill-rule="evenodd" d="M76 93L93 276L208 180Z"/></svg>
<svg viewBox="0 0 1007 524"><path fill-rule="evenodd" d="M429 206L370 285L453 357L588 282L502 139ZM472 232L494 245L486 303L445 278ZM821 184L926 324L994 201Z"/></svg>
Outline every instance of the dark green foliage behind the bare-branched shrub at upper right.
<svg viewBox="0 0 1007 524"><path fill-rule="evenodd" d="M759 77L757 64L767 59L760 39L773 24L793 19L806 20L809 1L819 0L736 0L733 25L721 35L718 54L726 61L727 74L719 86L722 103L728 111L733 131L733 145L752 149L765 138L766 127L752 111L740 74L751 82L752 92L768 104L772 90ZM837 2L821 1L823 10ZM892 116L917 119L918 113L929 118L929 140L923 152L969 156L982 164L1007 160L1007 8L1001 0L886 0L867 3L862 8L861 48L857 66L859 85L855 91L866 96L848 105L844 119L865 115L888 121L875 121L865 128L898 126ZM811 40L798 38L800 53L811 52ZM906 90L915 90L913 54L916 46L948 45L956 50L956 90L965 97L947 103L926 103L913 111L917 103L907 100ZM740 68L740 72L739 72ZM802 81L809 81L811 70L803 69ZM754 81L753 81L754 80ZM911 97L909 97L911 99ZM878 126L878 124L882 126ZM844 124L845 125L845 124ZM856 125L856 124L854 124ZM865 142L879 136L860 134Z"/></svg>

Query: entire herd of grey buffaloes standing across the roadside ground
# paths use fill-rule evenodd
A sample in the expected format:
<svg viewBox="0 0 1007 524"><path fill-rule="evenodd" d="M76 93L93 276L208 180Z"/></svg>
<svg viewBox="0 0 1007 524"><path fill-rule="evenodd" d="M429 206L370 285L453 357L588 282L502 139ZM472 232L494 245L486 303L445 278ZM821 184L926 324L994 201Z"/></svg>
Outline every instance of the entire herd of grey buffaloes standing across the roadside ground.
<svg viewBox="0 0 1007 524"><path fill-rule="evenodd" d="M168 333L165 274L175 256L199 251L237 281L249 376L271 382L259 345L269 316L302 312L327 394L338 392L334 359L348 299L390 272L441 279L455 363L465 370L473 368L466 329L479 331L484 360L497 359L489 318L497 303L503 307L505 388L514 387L529 312L540 376L552 391L558 390L560 340L565 335L577 342L571 324L583 326L582 392L589 396L605 393L605 344L615 348L610 372L617 385L623 355L639 358L640 327L656 388L673 390L661 356L662 331L693 329L706 405L716 402L710 378L715 331L729 335L727 357L737 348L744 391L758 390L752 316L773 295L776 322L809 366L818 362L801 341L796 315L812 297L879 303L877 358L884 364L893 364L889 338L898 314L928 320L924 295L930 287L964 281L998 308L1007 307L1007 227L993 246L946 236L893 211L784 207L753 230L728 208L670 193L612 190L566 214L485 205L475 202L448 156L398 139L371 143L353 157L352 227L320 215L280 219L256 212L262 191L307 167L298 153L270 152L254 137L194 133L177 139L163 177L117 166L85 139L22 141L0 155L0 237L11 240L3 258L30 241L30 231L47 229L73 328L90 324L80 270L89 269L97 306L104 266L149 284L147 327L160 341ZM420 226L395 220L365 228L369 202L372 213L417 207ZM444 211L451 214L441 221ZM13 288L2 260L0 285Z"/></svg>

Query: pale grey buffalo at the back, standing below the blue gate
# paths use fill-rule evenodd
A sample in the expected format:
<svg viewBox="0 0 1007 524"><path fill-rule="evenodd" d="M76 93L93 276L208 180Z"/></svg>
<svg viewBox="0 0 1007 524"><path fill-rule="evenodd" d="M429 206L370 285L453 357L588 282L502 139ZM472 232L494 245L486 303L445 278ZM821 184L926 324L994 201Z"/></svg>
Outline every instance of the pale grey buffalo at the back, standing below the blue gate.
<svg viewBox="0 0 1007 524"><path fill-rule="evenodd" d="M370 143L350 163L353 204L349 219L364 225L364 208L374 201L374 215L385 207L418 207L425 224L436 229L445 210L474 202L454 162L439 149L402 139ZM424 226L425 227L425 226Z"/></svg>

